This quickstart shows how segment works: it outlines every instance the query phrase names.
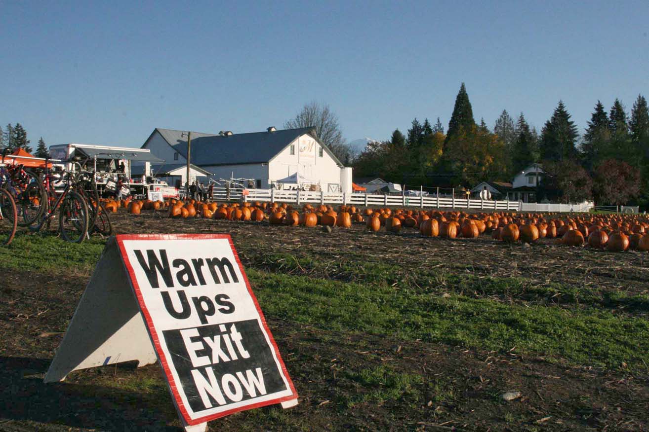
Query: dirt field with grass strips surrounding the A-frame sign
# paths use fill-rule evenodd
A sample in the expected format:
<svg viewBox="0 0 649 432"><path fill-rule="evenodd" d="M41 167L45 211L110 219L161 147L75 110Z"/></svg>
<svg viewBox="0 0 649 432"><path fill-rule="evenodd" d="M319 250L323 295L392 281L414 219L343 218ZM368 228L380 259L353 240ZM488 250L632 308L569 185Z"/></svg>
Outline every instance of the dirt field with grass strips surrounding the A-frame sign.
<svg viewBox="0 0 649 432"><path fill-rule="evenodd" d="M646 253L151 213L114 224L232 235L300 404L210 430L649 430ZM180 430L158 365L42 383L102 247L66 258L61 244L23 233L0 252L0 431ZM39 253L57 258L19 264Z"/></svg>

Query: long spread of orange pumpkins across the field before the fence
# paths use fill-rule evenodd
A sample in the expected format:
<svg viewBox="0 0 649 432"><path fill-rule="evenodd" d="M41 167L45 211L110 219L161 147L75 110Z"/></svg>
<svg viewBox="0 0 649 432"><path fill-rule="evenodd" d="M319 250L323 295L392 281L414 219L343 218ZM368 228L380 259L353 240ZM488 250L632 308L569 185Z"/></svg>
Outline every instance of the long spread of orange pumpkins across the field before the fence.
<svg viewBox="0 0 649 432"><path fill-rule="evenodd" d="M589 215L566 217L559 214L519 214L491 212L468 214L460 211L358 209L342 205L302 206L301 212L291 205L278 203L238 203L221 205L190 199L181 201L106 201L104 208L117 211L126 207L131 214L142 210L168 210L170 218L214 218L221 220L267 220L271 225L316 225L351 227L362 223L369 231L398 233L402 228L419 228L423 236L444 238L477 238L491 234L494 240L506 243L534 243L540 238L555 238L556 244L596 249L649 251L649 223L638 215Z"/></svg>

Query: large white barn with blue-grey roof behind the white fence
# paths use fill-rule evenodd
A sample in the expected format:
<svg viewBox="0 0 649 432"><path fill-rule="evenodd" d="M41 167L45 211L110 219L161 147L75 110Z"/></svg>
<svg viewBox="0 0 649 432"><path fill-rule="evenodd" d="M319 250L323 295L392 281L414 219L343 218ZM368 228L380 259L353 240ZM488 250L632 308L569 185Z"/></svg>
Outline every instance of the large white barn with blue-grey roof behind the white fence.
<svg viewBox="0 0 649 432"><path fill-rule="evenodd" d="M142 148L165 161L187 163L188 132L156 128ZM244 179L256 188L307 188L324 192L351 192L351 168L345 168L321 142L315 128L263 132L191 132L190 163L213 179ZM299 178L299 185L286 179ZM182 174L182 184L185 178ZM190 173L190 182L193 181ZM348 186L349 183L349 186Z"/></svg>

